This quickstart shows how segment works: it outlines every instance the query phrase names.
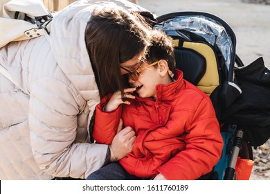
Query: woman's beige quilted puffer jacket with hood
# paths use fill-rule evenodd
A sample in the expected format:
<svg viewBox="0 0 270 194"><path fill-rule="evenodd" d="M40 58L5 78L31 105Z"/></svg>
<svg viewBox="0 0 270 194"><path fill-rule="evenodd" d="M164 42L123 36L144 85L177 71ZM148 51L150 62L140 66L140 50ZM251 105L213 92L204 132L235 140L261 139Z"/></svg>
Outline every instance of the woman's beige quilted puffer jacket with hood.
<svg viewBox="0 0 270 194"><path fill-rule="evenodd" d="M0 64L19 85L0 73L0 179L86 178L104 164L107 145L88 141L100 98L84 30L93 5L144 9L123 0L91 3L58 12L49 38L0 48Z"/></svg>

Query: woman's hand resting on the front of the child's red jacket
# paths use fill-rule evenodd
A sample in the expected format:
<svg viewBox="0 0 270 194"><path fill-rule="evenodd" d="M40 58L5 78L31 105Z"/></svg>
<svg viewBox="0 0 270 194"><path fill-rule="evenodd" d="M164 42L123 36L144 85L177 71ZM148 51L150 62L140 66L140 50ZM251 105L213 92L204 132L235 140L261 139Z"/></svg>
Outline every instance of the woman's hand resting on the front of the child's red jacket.
<svg viewBox="0 0 270 194"><path fill-rule="evenodd" d="M118 125L118 130L116 136L114 136L113 141L111 142L111 161L115 161L114 157L119 160L127 155L127 153L132 151L133 143L136 139L135 132L132 130L132 127L125 127L122 130L123 121L120 119Z"/></svg>

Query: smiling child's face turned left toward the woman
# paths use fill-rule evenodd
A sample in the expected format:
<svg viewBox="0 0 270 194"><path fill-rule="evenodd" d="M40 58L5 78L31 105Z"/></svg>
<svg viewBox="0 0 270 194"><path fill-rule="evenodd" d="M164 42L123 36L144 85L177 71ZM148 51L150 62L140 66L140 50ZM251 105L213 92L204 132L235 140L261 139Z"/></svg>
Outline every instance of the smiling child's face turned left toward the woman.
<svg viewBox="0 0 270 194"><path fill-rule="evenodd" d="M141 98L156 98L156 85L163 83L163 77L160 75L159 67L154 67L157 63L151 67L147 67L148 65L147 63L141 64L141 68L137 69L140 72L138 80L134 81L129 77L129 84L136 87L136 92Z"/></svg>

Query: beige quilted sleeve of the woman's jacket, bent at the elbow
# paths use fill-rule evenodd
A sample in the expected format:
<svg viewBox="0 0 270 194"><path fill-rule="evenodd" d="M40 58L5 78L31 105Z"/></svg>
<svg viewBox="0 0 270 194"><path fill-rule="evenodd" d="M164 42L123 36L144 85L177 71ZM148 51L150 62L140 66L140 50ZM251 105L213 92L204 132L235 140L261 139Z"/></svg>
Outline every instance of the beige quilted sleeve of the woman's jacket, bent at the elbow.
<svg viewBox="0 0 270 194"><path fill-rule="evenodd" d="M39 70L40 71L40 70ZM57 72L55 69L54 73ZM30 141L39 167L56 177L86 178L105 162L107 145L78 143L78 114L83 100L64 76L31 84Z"/></svg>

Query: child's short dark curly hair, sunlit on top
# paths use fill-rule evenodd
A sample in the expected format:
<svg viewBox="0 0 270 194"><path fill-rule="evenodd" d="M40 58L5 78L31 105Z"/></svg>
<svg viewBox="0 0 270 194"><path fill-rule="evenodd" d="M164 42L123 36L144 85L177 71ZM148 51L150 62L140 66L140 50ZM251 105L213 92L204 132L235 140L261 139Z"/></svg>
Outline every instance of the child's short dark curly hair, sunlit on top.
<svg viewBox="0 0 270 194"><path fill-rule="evenodd" d="M161 30L152 31L152 44L148 48L149 51L146 55L147 63L156 62L158 60L166 60L168 62L168 68L174 73L175 58L174 47L172 45L172 38L166 35ZM154 66L155 67L155 66Z"/></svg>

